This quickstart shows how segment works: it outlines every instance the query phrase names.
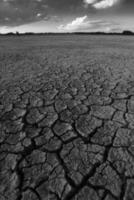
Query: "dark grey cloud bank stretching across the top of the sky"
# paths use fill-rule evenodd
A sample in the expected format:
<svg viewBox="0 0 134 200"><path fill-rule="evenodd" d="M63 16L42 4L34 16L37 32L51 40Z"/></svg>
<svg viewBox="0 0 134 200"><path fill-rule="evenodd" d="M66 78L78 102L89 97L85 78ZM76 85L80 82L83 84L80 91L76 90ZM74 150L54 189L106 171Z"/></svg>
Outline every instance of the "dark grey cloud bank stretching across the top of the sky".
<svg viewBox="0 0 134 200"><path fill-rule="evenodd" d="M96 0L95 2L102 1L109 0ZM90 2L90 0L0 0L0 26L16 27L41 20L50 21L50 19L61 20L60 24L62 24L62 18L66 19L65 24L63 24L66 26L69 17L73 20L86 15L93 20L98 20L101 17L104 20L108 16L112 18L112 16L115 17L120 14L134 15L133 0L114 1L120 2L119 4L113 4L115 5L114 8L105 6L110 8L96 9L95 5L90 3L85 6L85 2ZM97 26L104 26L104 24L99 23Z"/></svg>

